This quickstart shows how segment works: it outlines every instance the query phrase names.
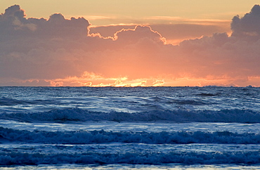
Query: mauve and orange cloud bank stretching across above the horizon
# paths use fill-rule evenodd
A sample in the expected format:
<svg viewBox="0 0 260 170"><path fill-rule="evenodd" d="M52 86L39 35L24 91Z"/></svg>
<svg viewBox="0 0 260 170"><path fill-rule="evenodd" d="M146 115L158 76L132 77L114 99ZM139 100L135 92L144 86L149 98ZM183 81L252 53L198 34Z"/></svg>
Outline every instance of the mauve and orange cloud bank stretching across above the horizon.
<svg viewBox="0 0 260 170"><path fill-rule="evenodd" d="M230 36L172 45L160 30L174 25L102 27L101 34L84 18L26 18L15 5L0 15L0 86L260 86L259 23L255 5L233 18Z"/></svg>

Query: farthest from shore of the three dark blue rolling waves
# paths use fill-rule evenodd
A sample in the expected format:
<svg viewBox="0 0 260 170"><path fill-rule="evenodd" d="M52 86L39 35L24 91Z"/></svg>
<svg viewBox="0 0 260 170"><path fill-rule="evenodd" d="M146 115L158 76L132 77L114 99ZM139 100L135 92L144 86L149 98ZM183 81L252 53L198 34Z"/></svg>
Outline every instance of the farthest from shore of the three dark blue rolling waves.
<svg viewBox="0 0 260 170"><path fill-rule="evenodd" d="M1 113L0 119L20 122L228 122L260 123L260 112L253 110L155 110L150 112L93 112L80 108L51 110L49 112Z"/></svg>

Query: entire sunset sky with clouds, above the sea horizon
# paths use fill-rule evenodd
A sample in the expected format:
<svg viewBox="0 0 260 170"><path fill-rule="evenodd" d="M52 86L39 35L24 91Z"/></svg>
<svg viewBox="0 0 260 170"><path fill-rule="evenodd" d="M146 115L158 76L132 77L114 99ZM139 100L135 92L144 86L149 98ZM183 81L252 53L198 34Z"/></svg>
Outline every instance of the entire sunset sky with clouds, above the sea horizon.
<svg viewBox="0 0 260 170"><path fill-rule="evenodd" d="M253 0L0 1L0 86L260 86Z"/></svg>

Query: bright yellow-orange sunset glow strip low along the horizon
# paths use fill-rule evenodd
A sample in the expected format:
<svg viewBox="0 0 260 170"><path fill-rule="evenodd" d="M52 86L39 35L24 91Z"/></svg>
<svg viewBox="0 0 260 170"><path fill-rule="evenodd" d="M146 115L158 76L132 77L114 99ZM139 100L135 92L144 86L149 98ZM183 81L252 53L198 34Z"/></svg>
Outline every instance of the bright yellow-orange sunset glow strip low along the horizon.
<svg viewBox="0 0 260 170"><path fill-rule="evenodd" d="M65 77L64 79L45 80L49 86L89 86L89 87L136 87L136 86L260 86L260 77L232 78L208 76L205 78L174 77L164 75L157 78L129 79L128 77L103 77L101 74L84 72L81 77ZM32 81L32 80L30 80Z"/></svg>

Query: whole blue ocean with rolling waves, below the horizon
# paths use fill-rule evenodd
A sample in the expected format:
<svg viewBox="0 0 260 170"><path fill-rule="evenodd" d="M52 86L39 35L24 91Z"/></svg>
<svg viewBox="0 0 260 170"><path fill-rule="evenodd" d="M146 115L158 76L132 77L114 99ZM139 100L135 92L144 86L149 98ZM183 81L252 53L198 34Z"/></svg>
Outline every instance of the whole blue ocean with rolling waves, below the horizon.
<svg viewBox="0 0 260 170"><path fill-rule="evenodd" d="M260 88L0 87L0 169L260 169Z"/></svg>

